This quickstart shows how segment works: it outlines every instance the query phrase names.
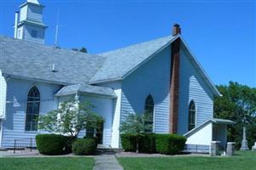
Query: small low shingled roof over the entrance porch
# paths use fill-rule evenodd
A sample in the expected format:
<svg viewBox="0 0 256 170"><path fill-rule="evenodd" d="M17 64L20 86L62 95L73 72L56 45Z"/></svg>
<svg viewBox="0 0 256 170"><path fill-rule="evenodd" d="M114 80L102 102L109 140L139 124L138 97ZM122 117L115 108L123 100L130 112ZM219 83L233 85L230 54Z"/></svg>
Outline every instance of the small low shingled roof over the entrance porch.
<svg viewBox="0 0 256 170"><path fill-rule="evenodd" d="M71 94L100 94L109 96L111 98L116 98L117 95L111 88L104 88L99 86L92 86L88 84L75 84L70 86L65 86L59 90L55 96L64 96L64 95L71 95Z"/></svg>

